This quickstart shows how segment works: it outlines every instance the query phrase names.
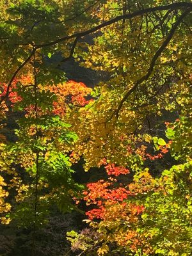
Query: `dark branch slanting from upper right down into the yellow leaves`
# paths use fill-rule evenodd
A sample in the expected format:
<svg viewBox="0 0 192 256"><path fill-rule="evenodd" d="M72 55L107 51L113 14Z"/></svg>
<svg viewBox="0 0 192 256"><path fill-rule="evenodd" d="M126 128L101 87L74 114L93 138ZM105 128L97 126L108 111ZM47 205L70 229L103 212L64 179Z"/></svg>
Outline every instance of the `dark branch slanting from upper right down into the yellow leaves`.
<svg viewBox="0 0 192 256"><path fill-rule="evenodd" d="M113 113L113 115L115 114L116 117L118 118L120 109L122 108L125 100L127 100L129 98L129 96L131 95L132 92L134 92L136 90L136 88L138 88L138 86L143 83L144 81L147 81L147 79L150 77L150 75L152 74L154 67L156 65L156 61L157 58L159 58L159 56L161 55L161 53L164 51L164 49L166 48L166 46L168 45L168 43L170 42L170 40L172 40L172 37L176 31L176 29L179 27L180 23L182 22L182 20L184 19L184 17L186 17L186 15L188 15L188 13L191 12L191 8L188 8L185 12L182 13L182 15L180 15L179 19L177 20L177 22L175 22L175 24L173 25L172 29L170 30L169 35L167 36L166 40L164 40L163 44L161 45L161 47L159 47L159 49L157 50L156 54L154 55L154 57L152 58L152 61L150 62L150 66L148 68L148 72L147 74L145 74L145 76L141 77L136 84L131 88L131 90L129 90L123 97L123 99L120 101L120 104L118 105L118 108L116 109L115 113ZM112 116L113 117L113 116Z"/></svg>

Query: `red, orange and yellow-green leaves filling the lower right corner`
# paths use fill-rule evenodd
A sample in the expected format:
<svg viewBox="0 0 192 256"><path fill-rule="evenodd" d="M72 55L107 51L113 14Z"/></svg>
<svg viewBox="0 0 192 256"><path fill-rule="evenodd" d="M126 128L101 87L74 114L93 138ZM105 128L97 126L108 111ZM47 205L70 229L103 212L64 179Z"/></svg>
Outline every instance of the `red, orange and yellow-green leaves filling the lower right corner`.
<svg viewBox="0 0 192 256"><path fill-rule="evenodd" d="M86 212L86 222L96 232L97 243L91 236L85 239L76 234L72 248L92 248L95 254L88 255L190 255L191 164L190 160L173 165L159 178L145 168L128 184L120 184L118 173L88 184L84 200L92 209ZM86 244L84 249L77 246L81 241Z"/></svg>

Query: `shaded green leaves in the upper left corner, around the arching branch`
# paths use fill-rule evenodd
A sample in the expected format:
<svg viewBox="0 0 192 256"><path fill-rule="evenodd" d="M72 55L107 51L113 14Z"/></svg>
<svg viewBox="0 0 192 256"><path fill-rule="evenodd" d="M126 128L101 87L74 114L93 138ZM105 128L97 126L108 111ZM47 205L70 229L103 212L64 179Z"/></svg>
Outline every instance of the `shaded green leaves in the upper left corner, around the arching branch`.
<svg viewBox="0 0 192 256"><path fill-rule="evenodd" d="M57 83L65 81L58 65L70 55L73 38L68 38L67 44L54 41L95 24L97 17L91 15L90 10L97 10L98 4L93 0L1 1L0 81L8 84L15 70L18 73L23 64L22 74L31 73L33 68L29 60L33 52L38 52L36 65L41 68L42 76L38 77L41 83L45 84L52 79ZM48 60L58 52L61 52L60 57L63 58L49 63Z"/></svg>

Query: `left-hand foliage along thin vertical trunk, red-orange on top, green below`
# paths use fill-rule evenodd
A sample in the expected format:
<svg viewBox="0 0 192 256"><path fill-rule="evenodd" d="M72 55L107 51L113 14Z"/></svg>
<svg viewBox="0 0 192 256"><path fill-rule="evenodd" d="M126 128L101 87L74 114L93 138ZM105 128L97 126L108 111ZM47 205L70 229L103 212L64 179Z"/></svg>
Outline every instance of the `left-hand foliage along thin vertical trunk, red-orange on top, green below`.
<svg viewBox="0 0 192 256"><path fill-rule="evenodd" d="M17 191L17 204L12 218L21 220L19 224L24 226L42 225L51 205L58 205L64 212L74 209L72 197L77 197L83 188L72 179L67 152L77 135L70 131L71 125L65 122L65 116L67 109L69 112L86 103L84 97L89 89L75 81L58 86L35 85L30 77L22 77L15 81L13 90L10 108L23 114L17 120L16 143L6 140L1 143L1 172L10 183L6 184L1 178L1 213L5 214L11 207L4 202L3 198L9 193L3 187L13 187ZM18 173L18 166L22 173ZM10 215L6 216L8 222ZM2 221L5 223L5 216Z"/></svg>

